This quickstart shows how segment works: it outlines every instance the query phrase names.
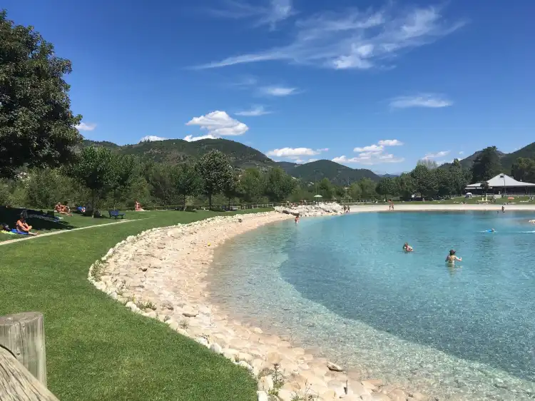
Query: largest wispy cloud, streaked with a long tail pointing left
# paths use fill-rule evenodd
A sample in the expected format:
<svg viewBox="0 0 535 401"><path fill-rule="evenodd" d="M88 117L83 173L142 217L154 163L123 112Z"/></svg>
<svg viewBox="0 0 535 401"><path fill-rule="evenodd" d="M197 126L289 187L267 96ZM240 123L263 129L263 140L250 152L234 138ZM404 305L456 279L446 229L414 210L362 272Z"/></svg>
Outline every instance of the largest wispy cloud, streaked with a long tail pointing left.
<svg viewBox="0 0 535 401"><path fill-rule="evenodd" d="M452 34L464 21L445 21L441 8L322 12L297 20L292 41L264 51L213 61L196 68L218 68L260 61L284 61L335 69L385 66L402 51L430 44Z"/></svg>

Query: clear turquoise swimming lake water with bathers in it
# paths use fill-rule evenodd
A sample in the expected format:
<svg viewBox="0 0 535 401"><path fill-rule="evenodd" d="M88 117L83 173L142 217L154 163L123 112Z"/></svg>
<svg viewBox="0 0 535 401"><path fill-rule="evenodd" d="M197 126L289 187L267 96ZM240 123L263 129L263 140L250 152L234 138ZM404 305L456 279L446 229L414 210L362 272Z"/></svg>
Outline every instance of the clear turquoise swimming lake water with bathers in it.
<svg viewBox="0 0 535 401"><path fill-rule="evenodd" d="M218 250L210 290L241 318L365 375L441 400L534 400L529 218L362 213L269 225ZM454 268L450 248L463 258Z"/></svg>

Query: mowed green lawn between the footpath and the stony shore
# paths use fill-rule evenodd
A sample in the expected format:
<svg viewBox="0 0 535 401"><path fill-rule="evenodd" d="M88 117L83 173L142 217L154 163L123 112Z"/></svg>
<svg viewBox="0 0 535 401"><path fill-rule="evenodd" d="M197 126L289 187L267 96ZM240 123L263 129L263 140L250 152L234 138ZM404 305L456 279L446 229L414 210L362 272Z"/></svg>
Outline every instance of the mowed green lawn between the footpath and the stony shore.
<svg viewBox="0 0 535 401"><path fill-rule="evenodd" d="M91 263L128 235L230 214L138 213L143 220L0 246L0 315L44 313L48 387L56 397L256 399L248 372L164 323L131 313L87 280Z"/></svg>

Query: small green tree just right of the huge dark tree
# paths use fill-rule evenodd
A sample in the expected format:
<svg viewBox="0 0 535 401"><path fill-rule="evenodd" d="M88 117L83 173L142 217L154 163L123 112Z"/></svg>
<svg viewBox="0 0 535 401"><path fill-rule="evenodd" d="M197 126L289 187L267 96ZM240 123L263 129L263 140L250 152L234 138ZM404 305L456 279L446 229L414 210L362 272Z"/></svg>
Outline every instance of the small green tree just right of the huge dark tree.
<svg viewBox="0 0 535 401"><path fill-rule="evenodd" d="M116 182L116 156L106 148L83 148L78 161L68 168L68 174L91 191L94 212Z"/></svg>

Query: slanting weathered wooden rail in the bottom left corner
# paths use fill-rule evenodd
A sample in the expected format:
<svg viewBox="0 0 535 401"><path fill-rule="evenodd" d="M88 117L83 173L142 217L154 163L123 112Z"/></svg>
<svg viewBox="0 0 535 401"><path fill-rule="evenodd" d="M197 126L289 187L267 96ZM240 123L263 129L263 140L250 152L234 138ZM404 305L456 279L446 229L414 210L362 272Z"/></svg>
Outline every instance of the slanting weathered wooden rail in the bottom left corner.
<svg viewBox="0 0 535 401"><path fill-rule="evenodd" d="M0 347L0 400L58 401L54 394L4 347Z"/></svg>

